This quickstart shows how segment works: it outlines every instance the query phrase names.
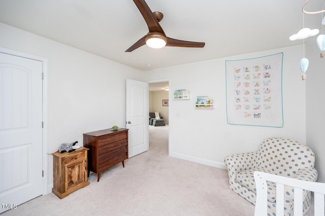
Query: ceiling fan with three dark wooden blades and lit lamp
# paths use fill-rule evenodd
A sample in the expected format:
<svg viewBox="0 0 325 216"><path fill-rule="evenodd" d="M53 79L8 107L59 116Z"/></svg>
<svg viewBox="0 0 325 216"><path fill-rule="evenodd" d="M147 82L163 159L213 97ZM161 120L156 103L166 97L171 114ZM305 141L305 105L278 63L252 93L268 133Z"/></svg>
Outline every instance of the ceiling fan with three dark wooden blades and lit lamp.
<svg viewBox="0 0 325 216"><path fill-rule="evenodd" d="M139 41L128 48L125 52L132 52L135 49L147 44L152 48L162 48L168 47L193 47L202 48L205 43L202 42L191 42L191 41L181 41L172 39L166 36L163 28L159 25L159 21L163 19L164 15L160 12L153 12L150 10L149 6L144 0L133 0L138 7L140 13L142 14L144 20L146 21L149 32L144 35Z"/></svg>

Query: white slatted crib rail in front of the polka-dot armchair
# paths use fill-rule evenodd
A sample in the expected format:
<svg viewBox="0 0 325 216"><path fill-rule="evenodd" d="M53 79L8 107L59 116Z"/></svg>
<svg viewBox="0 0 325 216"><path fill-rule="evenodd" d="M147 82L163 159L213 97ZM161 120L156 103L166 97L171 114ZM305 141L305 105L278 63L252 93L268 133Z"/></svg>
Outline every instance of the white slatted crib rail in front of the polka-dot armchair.
<svg viewBox="0 0 325 216"><path fill-rule="evenodd" d="M324 194L325 183L307 182L299 179L293 179L280 175L254 172L256 184L256 204L255 216L267 215L268 207L268 185L266 181L276 183L276 215L284 214L284 186L295 188L294 195L294 214L295 216L303 215L303 190L314 192L314 215L324 216Z"/></svg>

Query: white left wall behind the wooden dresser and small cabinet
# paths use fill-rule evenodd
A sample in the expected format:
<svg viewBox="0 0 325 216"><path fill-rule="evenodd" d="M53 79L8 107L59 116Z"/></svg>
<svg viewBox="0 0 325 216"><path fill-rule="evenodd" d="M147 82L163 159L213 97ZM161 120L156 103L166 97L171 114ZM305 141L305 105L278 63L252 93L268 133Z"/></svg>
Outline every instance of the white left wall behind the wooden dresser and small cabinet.
<svg viewBox="0 0 325 216"><path fill-rule="evenodd" d="M0 23L0 47L48 59L48 152L83 133L125 127L125 80L144 73L114 61ZM53 183L52 156L48 184Z"/></svg>

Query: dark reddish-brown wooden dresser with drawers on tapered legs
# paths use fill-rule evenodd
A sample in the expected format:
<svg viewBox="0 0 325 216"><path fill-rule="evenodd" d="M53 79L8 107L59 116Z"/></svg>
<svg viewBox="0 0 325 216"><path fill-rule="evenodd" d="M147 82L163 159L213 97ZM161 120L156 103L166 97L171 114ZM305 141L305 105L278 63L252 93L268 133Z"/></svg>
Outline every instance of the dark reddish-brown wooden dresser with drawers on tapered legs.
<svg viewBox="0 0 325 216"><path fill-rule="evenodd" d="M99 130L83 134L83 146L88 148L89 172L98 173L100 181L102 171L128 158L128 129Z"/></svg>

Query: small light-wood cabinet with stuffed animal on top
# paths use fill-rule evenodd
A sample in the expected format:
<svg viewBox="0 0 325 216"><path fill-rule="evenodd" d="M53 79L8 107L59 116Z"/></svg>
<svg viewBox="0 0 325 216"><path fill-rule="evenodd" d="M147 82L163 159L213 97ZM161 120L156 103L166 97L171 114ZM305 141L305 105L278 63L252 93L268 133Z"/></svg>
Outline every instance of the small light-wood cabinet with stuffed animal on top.
<svg viewBox="0 0 325 216"><path fill-rule="evenodd" d="M72 192L89 185L87 179L87 148L73 152L53 154L52 192L62 199Z"/></svg>

